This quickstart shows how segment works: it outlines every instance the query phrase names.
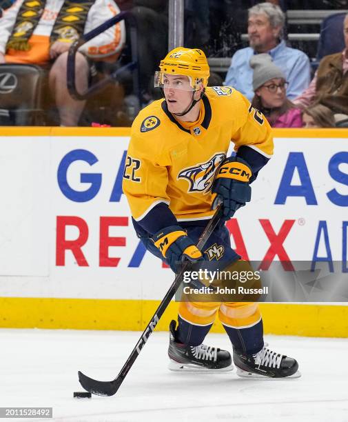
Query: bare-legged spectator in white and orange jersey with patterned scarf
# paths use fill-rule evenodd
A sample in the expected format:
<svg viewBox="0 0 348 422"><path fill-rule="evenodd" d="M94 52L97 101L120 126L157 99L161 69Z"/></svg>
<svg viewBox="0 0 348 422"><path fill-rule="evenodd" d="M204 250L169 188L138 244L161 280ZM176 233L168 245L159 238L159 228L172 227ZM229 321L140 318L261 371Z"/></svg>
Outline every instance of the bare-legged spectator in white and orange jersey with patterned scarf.
<svg viewBox="0 0 348 422"><path fill-rule="evenodd" d="M67 59L71 43L119 13L113 0L17 0L0 19L0 63L37 64L48 70L48 83L61 125L76 126L85 101L70 97ZM99 34L76 54L76 88L88 88L95 60L115 58L125 41L123 22Z"/></svg>

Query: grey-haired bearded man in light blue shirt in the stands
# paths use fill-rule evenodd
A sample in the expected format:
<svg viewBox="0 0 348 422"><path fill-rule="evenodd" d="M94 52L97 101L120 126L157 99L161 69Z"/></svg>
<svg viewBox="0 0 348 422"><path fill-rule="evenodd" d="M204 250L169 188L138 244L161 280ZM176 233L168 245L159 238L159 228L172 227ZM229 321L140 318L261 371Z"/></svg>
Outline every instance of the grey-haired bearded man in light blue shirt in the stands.
<svg viewBox="0 0 348 422"><path fill-rule="evenodd" d="M249 47L234 53L225 85L233 86L251 100L254 93L249 61L254 54L268 53L289 83L287 97L296 98L309 85L310 66L305 53L287 47L282 39L284 13L279 6L268 2L256 4L248 12Z"/></svg>

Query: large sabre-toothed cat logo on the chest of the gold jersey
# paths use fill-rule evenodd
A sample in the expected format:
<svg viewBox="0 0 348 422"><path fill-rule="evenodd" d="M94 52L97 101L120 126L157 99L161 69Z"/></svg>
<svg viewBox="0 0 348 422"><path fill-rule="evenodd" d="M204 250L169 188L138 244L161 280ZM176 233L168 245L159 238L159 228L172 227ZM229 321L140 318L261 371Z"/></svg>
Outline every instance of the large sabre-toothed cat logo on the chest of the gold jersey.
<svg viewBox="0 0 348 422"><path fill-rule="evenodd" d="M199 163L193 167L185 168L178 174L178 179L187 179L190 182L190 187L187 193L190 192L205 192L207 193L212 187L215 172L221 161L225 159L225 152L219 152L214 157L205 163Z"/></svg>

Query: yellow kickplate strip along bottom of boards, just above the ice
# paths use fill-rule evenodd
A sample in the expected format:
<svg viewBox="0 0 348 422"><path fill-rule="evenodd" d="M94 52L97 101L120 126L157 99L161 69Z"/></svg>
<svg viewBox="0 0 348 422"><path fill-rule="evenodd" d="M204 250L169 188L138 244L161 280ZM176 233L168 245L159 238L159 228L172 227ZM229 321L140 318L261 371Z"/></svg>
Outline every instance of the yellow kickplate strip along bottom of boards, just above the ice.
<svg viewBox="0 0 348 422"><path fill-rule="evenodd" d="M0 328L143 330L159 301L0 297ZM265 334L348 337L348 306L260 303ZM156 330L176 319L171 302ZM216 320L212 332L224 332Z"/></svg>

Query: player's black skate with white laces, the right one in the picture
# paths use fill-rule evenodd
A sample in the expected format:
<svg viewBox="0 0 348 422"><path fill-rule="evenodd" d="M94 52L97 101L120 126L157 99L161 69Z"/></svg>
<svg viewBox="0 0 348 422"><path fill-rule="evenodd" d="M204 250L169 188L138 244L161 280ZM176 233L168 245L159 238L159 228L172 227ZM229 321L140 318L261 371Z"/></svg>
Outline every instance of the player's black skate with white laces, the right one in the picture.
<svg viewBox="0 0 348 422"><path fill-rule="evenodd" d="M256 354L233 353L237 375L247 378L298 378L298 363L295 359L273 352L265 346Z"/></svg>

